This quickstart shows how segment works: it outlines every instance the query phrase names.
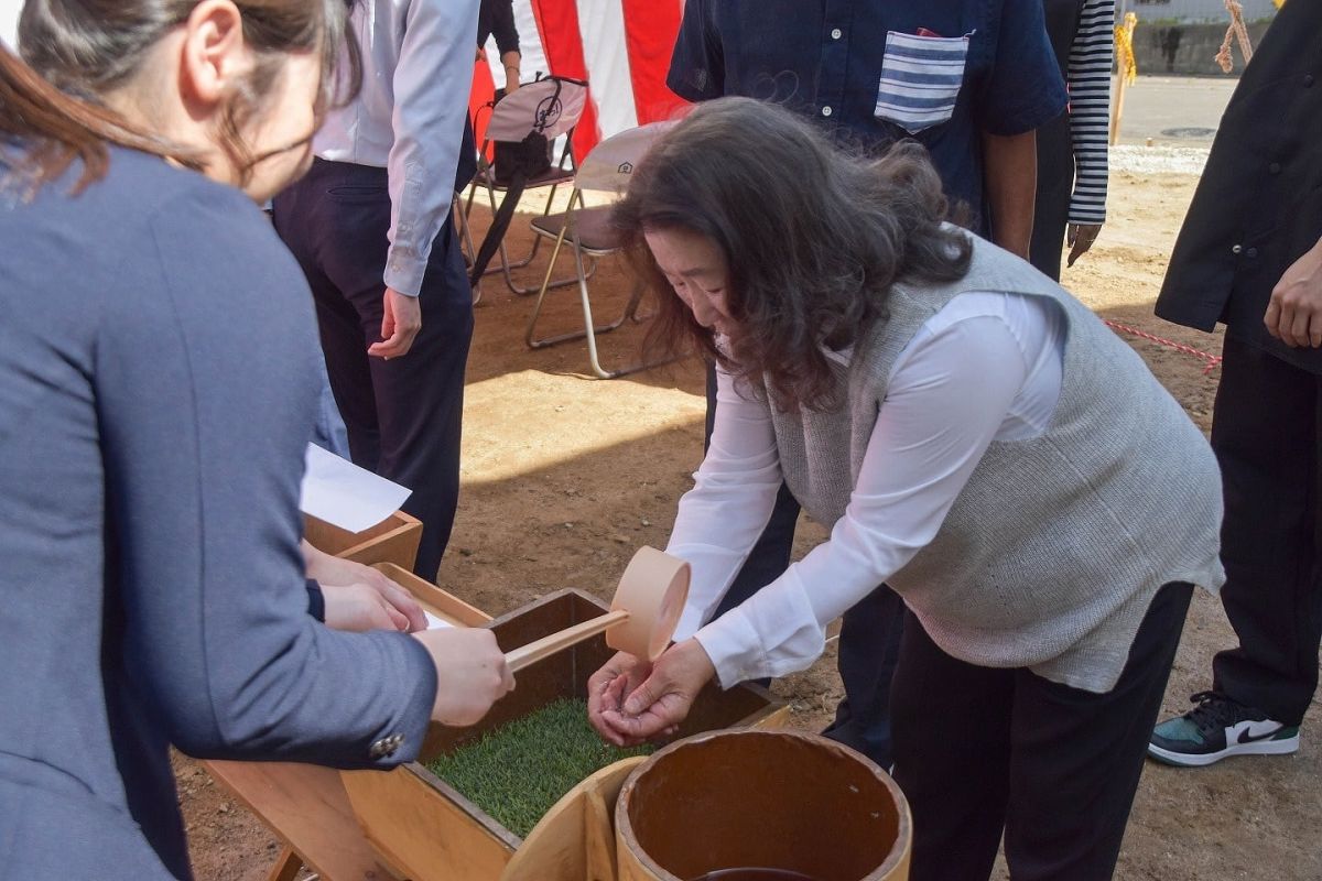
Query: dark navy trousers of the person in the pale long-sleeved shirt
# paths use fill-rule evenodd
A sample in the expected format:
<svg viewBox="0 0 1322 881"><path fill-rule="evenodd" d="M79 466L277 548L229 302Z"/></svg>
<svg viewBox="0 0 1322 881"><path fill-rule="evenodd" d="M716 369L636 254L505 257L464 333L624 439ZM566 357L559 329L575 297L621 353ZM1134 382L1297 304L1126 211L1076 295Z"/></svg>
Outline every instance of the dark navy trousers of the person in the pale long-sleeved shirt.
<svg viewBox="0 0 1322 881"><path fill-rule="evenodd" d="M385 361L369 358L368 346L381 339L386 170L317 160L275 198L274 219L312 287L353 461L412 490L403 509L423 523L414 571L434 580L459 501L464 366L473 333L453 225L447 218L432 243L418 296L422 330L407 355Z"/></svg>

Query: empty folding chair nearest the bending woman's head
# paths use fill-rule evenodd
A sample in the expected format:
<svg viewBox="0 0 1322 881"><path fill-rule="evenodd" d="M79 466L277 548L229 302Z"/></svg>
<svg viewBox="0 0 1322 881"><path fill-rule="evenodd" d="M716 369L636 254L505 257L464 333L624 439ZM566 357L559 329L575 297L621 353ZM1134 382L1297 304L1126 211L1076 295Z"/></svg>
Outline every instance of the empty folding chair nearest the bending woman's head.
<svg viewBox="0 0 1322 881"><path fill-rule="evenodd" d="M588 296L588 275L583 271L583 258L604 258L620 250L623 242L619 234L611 227L611 206L602 205L588 207L583 201L584 192L611 193L621 195L629 184L629 176L652 144L666 129L674 125L673 122L649 123L613 135L598 144L579 165L578 174L574 176L574 192L570 193L568 209L561 214L545 214L533 218L533 232L538 238L554 239L551 260L546 267L542 287L537 292L537 302L533 314L527 320L527 332L524 342L529 349L543 349L568 339L587 338L588 359L592 372L602 379L613 379L648 367L656 367L665 362L640 363L621 370L605 370L596 351L596 334L615 330L625 321L641 322L646 317L639 317L639 302L642 300L642 283L636 281L629 293L628 304L619 318L605 325L592 322L592 301ZM578 207L575 207L575 203ZM546 292L555 287L551 283L551 273L555 271L555 262L559 259L561 248L564 244L574 251L575 277L579 287L579 299L583 302L583 330L562 333L554 337L538 338L537 320L542 313L542 304L546 301Z"/></svg>

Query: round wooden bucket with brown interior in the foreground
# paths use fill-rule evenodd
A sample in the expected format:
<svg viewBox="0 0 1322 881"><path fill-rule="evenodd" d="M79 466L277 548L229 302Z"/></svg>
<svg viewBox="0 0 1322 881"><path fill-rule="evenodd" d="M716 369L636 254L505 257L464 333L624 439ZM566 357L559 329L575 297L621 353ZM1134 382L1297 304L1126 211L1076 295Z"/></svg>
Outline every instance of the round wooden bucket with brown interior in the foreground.
<svg viewBox="0 0 1322 881"><path fill-rule="evenodd" d="M731 730L636 767L615 833L619 881L900 881L912 820L895 782L846 746Z"/></svg>

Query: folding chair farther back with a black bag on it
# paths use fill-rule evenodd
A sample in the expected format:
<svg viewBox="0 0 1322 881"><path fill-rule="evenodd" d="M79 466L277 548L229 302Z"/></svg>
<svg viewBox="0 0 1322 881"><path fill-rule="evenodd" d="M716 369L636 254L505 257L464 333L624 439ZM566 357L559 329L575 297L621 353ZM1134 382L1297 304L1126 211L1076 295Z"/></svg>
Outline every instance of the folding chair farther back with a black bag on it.
<svg viewBox="0 0 1322 881"><path fill-rule="evenodd" d="M473 178L473 182L468 189L468 203L464 209L465 215L472 211L479 185L486 190L486 198L490 202L493 221L500 211L500 205L504 205L506 198L510 198L512 194L516 198L520 195L510 192L510 184L496 180L494 168L485 157L492 141L517 143L522 141L534 132L543 135L546 140L551 143L562 136L564 139L564 144L559 151L559 160L546 172L524 181L522 188L520 188L522 192L526 192L530 189L549 186L550 192L546 195L546 205L542 207L542 214L550 214L551 205L555 201L557 189L562 184L568 184L574 178L574 127L578 125L586 107L587 83L563 77L549 77L520 86L518 91L512 95L506 95L497 104L494 104L490 119L486 123L486 135L483 140L483 148L479 153L477 176ZM500 205L496 201L496 193L504 194ZM505 231L500 230L496 234L500 236L497 252L500 255L500 269L505 275L505 284L509 285L509 289L517 295L534 293L537 288L520 287L514 281L510 271L525 267L537 258L541 239L534 238L529 252L524 258L513 260L505 247ZM485 275L486 272L494 271L496 267L488 267L484 268L483 273ZM574 279L562 279L557 283L557 285L572 283Z"/></svg>

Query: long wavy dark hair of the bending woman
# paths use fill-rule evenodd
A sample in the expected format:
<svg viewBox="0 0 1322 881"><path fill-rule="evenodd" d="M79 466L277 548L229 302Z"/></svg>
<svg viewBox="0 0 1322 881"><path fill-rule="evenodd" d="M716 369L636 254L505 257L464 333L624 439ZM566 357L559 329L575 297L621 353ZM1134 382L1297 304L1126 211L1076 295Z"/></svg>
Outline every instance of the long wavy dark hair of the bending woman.
<svg viewBox="0 0 1322 881"><path fill-rule="evenodd" d="M826 349L866 341L891 285L964 277L965 234L917 144L837 149L812 123L748 98L699 104L664 135L616 205L631 263L657 295L648 346L697 349L780 409L842 403ZM718 346L658 269L644 234L683 230L724 255L738 333ZM861 353L855 351L855 357Z"/></svg>

